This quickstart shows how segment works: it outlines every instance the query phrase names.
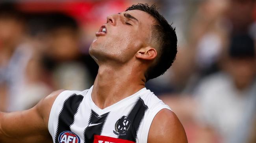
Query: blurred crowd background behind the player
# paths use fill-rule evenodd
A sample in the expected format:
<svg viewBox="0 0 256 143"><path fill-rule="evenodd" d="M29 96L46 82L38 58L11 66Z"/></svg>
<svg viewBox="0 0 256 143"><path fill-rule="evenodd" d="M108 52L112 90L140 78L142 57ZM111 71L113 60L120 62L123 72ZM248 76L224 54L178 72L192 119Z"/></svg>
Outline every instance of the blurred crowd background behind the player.
<svg viewBox="0 0 256 143"><path fill-rule="evenodd" d="M91 87L95 32L137 3L156 4L176 27L176 61L146 87L177 114L189 143L256 143L256 0L1 0L0 110Z"/></svg>

